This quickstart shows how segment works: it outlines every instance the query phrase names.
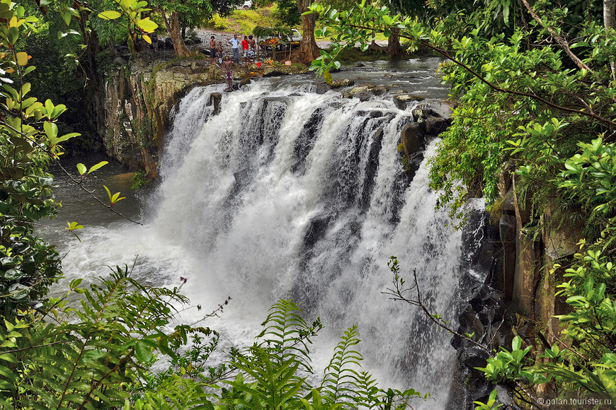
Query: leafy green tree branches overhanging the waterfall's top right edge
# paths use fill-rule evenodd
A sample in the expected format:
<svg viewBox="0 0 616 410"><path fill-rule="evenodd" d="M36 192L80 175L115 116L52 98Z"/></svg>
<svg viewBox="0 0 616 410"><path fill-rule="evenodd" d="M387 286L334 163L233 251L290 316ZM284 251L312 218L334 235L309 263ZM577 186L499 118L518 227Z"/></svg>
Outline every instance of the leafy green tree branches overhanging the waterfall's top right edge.
<svg viewBox="0 0 616 410"><path fill-rule="evenodd" d="M479 193L491 205L499 194L501 170L513 168L520 175L518 194L532 192L535 215L557 196L573 208L576 201L581 207L584 199L561 184L559 175L581 147L578 144L590 144L615 126L611 101L616 91L610 83L615 32L593 20L597 16L593 6L584 24L575 29L576 42L569 44L558 34L578 21L569 5L537 1L533 18L525 9L512 11L515 6L508 1L483 3L471 11L477 2L455 6L431 2L440 14L430 28L366 2L350 12L314 5L312 12L324 18L318 34L333 37L335 43L312 69L327 79L342 49L356 42L367 49L375 31L389 36L393 28L399 29L413 47L421 44L450 59L440 72L443 81L452 84L452 95L460 98L431 163L430 187L440 191L440 206L460 217L467 197ZM447 7L460 8L454 12ZM523 13L527 25L515 26L512 13ZM511 26L509 37L492 23L494 19L485 18L491 14ZM478 21L488 21L491 29L478 27ZM538 45L528 47L529 42ZM563 52L563 44L578 54Z"/></svg>

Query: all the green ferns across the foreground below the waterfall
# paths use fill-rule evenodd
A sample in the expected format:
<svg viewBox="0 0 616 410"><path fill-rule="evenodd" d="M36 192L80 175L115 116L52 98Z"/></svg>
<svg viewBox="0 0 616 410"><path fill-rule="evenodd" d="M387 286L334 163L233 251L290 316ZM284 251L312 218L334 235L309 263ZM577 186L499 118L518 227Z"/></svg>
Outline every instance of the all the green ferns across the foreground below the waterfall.
<svg viewBox="0 0 616 410"><path fill-rule="evenodd" d="M81 310L56 303L57 323L31 313L0 326L0 409L394 410L400 403L400 392L380 389L359 372L356 327L342 336L320 387L312 388L309 345L322 325L305 322L290 300L271 307L258 343L232 351L208 379L205 361L217 339L206 345L200 334L217 334L186 326L163 332L171 302L186 301L176 289L142 286L119 268L100 284L78 285L71 288L83 296ZM176 354L189 335L193 347ZM176 370L149 373L156 352L171 356ZM227 388L212 385L227 376L234 377Z"/></svg>

